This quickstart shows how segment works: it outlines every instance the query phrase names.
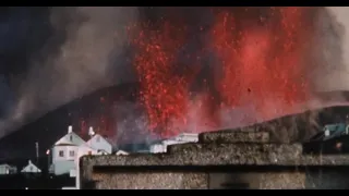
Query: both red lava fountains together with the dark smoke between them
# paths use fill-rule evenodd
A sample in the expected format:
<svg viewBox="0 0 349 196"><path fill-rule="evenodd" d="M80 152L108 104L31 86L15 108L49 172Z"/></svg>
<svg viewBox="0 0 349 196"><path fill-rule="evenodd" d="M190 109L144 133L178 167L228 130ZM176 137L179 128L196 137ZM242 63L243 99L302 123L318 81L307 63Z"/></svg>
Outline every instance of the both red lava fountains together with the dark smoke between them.
<svg viewBox="0 0 349 196"><path fill-rule="evenodd" d="M312 78L323 60L315 35L324 10L210 8L202 10L212 19L201 26L185 20L200 9L167 9L168 17L129 28L151 131L239 127L324 106ZM188 52L193 34L204 39Z"/></svg>

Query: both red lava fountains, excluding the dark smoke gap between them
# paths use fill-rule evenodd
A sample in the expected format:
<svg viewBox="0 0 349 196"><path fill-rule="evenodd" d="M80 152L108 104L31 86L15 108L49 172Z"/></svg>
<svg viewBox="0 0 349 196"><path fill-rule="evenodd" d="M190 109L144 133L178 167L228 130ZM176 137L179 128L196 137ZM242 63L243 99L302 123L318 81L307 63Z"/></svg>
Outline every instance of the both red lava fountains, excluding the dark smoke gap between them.
<svg viewBox="0 0 349 196"><path fill-rule="evenodd" d="M137 48L134 64L152 131L163 135L189 131L193 123L189 115L192 108L196 108L194 123L209 128L204 125L207 118L197 121L207 106L220 106L208 119L219 120L224 115L218 111L221 108L252 106L255 111L252 119L267 120L291 113L294 103L308 100L310 8L239 9L237 12L215 10L214 24L208 30L210 39L205 42L217 59L210 72L215 79L208 82L215 83L218 97L193 91L190 85L195 72L180 69L183 64L178 53L188 37L184 24L179 27L164 17L159 20L161 27L143 25L134 40ZM204 95L201 97L206 99L197 100L192 95ZM215 124L227 126L220 121Z"/></svg>

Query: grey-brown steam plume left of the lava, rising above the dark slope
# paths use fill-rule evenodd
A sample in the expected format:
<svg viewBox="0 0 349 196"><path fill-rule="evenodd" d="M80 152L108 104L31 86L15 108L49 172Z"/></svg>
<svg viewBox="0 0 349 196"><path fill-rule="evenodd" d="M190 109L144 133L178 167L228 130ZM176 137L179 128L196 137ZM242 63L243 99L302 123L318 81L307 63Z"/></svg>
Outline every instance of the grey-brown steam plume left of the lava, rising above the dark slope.
<svg viewBox="0 0 349 196"><path fill-rule="evenodd" d="M127 45L125 27L136 19L136 8L51 9L55 33L41 51L46 58L33 59L14 110L0 122L0 137L74 98L131 78L120 57ZM52 52L61 34L65 39Z"/></svg>

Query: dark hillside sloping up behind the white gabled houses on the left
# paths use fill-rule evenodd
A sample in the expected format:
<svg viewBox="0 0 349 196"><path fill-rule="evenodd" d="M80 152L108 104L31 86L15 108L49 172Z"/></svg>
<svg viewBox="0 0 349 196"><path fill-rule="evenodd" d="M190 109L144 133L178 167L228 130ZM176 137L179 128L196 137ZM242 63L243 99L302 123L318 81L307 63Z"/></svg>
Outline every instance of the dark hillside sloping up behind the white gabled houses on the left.
<svg viewBox="0 0 349 196"><path fill-rule="evenodd" d="M39 143L40 154L46 150L67 131L72 124L74 132L86 133L89 125L85 124L84 132L81 130L81 121L91 117L111 115L109 108L112 102L127 99L134 100L136 84L122 84L97 90L91 95L75 99L70 103L53 110L35 122L26 124L20 130L0 139L1 158L33 158L35 157L35 143Z"/></svg>

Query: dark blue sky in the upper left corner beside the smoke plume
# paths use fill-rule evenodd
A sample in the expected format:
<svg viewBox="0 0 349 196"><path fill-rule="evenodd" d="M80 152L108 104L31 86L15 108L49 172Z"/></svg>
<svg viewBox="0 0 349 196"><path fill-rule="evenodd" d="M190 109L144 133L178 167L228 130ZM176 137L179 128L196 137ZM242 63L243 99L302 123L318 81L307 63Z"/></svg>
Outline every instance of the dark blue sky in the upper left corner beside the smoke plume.
<svg viewBox="0 0 349 196"><path fill-rule="evenodd" d="M25 74L29 57L44 45L49 33L47 9L1 8L0 10L0 117L15 103L14 77ZM40 29L40 30L37 30Z"/></svg>

